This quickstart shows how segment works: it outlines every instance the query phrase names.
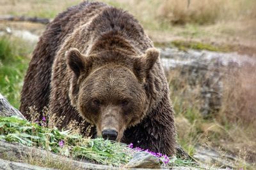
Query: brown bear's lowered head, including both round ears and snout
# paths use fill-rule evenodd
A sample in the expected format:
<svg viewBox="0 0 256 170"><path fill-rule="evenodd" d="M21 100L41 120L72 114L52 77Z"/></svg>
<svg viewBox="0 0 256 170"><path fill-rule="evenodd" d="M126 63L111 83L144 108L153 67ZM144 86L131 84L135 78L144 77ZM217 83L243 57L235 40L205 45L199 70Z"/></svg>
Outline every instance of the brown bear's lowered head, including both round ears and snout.
<svg viewBox="0 0 256 170"><path fill-rule="evenodd" d="M159 52L150 48L142 56L109 50L85 56L76 48L66 53L69 97L77 111L97 127L97 135L120 141L127 127L147 114L147 81Z"/></svg>

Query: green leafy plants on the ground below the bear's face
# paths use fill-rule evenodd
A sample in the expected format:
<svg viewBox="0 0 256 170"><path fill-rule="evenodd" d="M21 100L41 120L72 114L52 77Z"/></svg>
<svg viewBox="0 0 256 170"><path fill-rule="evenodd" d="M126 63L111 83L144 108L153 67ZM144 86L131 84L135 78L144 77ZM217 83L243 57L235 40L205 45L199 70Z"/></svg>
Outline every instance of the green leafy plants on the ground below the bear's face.
<svg viewBox="0 0 256 170"><path fill-rule="evenodd" d="M86 139L70 130L59 131L56 127L44 127L44 121L30 123L18 117L0 117L0 139L17 142L24 146L36 146L60 155L73 158L83 158L99 164L123 166L138 152L123 143L104 140L102 138ZM60 142L63 141L63 145ZM170 158L168 164L162 166L196 166L191 160Z"/></svg>

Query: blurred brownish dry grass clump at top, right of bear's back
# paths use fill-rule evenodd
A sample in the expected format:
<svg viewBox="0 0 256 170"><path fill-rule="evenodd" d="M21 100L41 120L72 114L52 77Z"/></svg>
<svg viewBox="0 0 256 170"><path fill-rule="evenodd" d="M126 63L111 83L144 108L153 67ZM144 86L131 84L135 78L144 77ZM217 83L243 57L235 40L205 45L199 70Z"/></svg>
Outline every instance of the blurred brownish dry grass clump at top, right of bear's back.
<svg viewBox="0 0 256 170"><path fill-rule="evenodd" d="M214 22L219 17L223 4L224 1L221 0L192 0L190 4L186 0L169 0L161 4L158 14L160 18L165 18L166 21L173 24L188 22L207 24Z"/></svg>

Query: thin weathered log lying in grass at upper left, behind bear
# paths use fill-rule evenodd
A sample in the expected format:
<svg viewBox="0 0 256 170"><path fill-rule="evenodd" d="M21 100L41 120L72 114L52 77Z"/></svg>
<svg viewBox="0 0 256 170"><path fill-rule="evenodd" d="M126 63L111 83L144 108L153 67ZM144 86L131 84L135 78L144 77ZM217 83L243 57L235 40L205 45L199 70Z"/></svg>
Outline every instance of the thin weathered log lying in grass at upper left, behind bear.
<svg viewBox="0 0 256 170"><path fill-rule="evenodd" d="M38 18L38 17L25 17L25 16L13 16L13 15L4 15L0 16L0 21L21 21L21 22L36 22L40 24L48 24L51 22L48 18Z"/></svg>

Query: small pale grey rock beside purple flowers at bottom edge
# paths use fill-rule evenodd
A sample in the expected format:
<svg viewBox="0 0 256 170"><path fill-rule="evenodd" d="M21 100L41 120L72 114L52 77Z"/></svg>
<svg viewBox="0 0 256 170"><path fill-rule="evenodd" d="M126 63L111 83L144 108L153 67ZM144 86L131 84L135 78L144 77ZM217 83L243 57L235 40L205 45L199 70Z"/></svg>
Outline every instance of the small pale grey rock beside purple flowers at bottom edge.
<svg viewBox="0 0 256 170"><path fill-rule="evenodd" d="M125 165L126 168L161 169L159 159L148 152L137 152Z"/></svg>

